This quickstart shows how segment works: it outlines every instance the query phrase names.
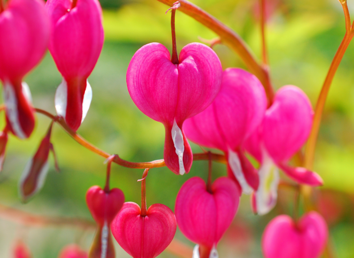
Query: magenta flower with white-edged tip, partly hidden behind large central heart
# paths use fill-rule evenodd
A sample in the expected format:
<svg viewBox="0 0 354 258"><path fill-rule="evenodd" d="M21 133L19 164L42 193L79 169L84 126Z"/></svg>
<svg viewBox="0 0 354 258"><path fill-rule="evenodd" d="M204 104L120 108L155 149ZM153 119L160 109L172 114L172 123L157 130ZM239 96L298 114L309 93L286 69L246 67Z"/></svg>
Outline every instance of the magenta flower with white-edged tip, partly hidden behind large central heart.
<svg viewBox="0 0 354 258"><path fill-rule="evenodd" d="M228 68L213 103L187 119L183 127L193 142L225 152L229 176L236 178L247 194L257 190L259 179L241 146L261 123L266 108L265 92L257 77L242 69Z"/></svg>

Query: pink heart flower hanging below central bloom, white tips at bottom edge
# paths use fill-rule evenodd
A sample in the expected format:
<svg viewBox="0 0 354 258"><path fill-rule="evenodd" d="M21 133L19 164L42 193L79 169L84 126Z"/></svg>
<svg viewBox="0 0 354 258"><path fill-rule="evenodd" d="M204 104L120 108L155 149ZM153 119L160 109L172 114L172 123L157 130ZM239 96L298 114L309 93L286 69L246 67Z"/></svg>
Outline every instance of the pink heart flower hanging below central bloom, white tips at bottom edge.
<svg viewBox="0 0 354 258"><path fill-rule="evenodd" d="M183 184L176 198L176 219L182 233L198 244L196 253L206 252L209 257L210 252L216 252L216 245L235 217L240 195L228 177L219 177L209 190L200 177Z"/></svg>

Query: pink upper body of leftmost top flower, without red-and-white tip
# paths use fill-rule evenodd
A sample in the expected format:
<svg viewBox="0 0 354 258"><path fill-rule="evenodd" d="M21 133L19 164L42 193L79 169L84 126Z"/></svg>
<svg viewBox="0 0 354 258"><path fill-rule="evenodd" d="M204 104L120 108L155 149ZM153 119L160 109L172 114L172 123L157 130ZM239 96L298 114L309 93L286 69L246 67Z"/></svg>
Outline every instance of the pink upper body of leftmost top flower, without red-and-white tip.
<svg viewBox="0 0 354 258"><path fill-rule="evenodd" d="M20 84L43 57L49 19L41 0L11 0L0 13L0 79Z"/></svg>

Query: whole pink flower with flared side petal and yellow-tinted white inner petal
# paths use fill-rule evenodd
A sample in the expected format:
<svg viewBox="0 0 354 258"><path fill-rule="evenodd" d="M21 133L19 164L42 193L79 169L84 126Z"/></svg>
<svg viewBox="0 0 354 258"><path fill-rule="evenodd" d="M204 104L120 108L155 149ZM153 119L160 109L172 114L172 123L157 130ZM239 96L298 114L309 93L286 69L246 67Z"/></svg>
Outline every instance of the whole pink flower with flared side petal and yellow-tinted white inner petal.
<svg viewBox="0 0 354 258"><path fill-rule="evenodd" d="M284 86L275 94L262 124L245 142L246 150L262 164L259 169L260 186L253 198L253 206L259 214L268 213L276 204L278 168L298 183L310 186L323 184L315 172L287 165L306 142L312 119L313 110L306 94L296 86Z"/></svg>

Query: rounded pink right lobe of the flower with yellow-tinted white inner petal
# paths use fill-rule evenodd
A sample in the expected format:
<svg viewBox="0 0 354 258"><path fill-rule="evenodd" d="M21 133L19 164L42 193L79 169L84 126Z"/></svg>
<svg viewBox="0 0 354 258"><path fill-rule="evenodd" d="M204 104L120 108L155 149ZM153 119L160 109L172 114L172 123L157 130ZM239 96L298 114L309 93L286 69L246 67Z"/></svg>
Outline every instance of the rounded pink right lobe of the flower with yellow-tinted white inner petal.
<svg viewBox="0 0 354 258"><path fill-rule="evenodd" d="M288 85L278 90L263 121L264 144L276 163L289 160L302 147L312 119L310 101L301 89Z"/></svg>

